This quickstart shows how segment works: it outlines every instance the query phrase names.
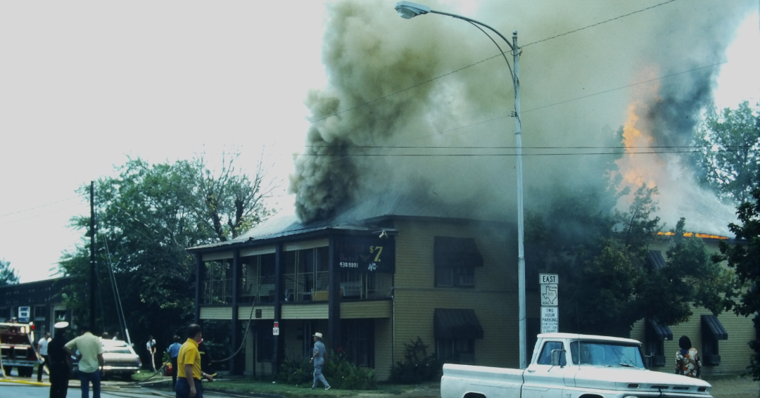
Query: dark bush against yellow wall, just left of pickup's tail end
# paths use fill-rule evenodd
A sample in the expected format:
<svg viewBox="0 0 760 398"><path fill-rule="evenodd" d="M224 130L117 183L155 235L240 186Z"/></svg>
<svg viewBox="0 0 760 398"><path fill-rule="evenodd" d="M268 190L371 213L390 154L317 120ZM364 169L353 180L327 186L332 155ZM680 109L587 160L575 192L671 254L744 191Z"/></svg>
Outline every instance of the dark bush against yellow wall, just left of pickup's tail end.
<svg viewBox="0 0 760 398"><path fill-rule="evenodd" d="M404 362L396 362L391 368L389 380L400 384L417 384L438 378L443 364L435 352L428 355L427 348L420 336L417 336L417 340L404 344Z"/></svg>

